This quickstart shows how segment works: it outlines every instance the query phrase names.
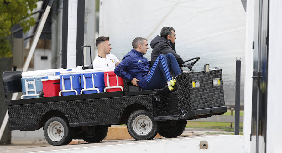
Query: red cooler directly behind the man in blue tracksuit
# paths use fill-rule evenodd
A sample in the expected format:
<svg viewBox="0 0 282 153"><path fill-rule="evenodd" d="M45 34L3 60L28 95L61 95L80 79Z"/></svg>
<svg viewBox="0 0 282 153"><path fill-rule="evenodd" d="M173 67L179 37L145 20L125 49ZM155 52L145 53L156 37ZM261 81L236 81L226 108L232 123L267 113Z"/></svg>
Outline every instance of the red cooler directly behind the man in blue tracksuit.
<svg viewBox="0 0 282 153"><path fill-rule="evenodd" d="M123 91L123 78L118 77L113 71L104 72L104 81L104 92Z"/></svg>

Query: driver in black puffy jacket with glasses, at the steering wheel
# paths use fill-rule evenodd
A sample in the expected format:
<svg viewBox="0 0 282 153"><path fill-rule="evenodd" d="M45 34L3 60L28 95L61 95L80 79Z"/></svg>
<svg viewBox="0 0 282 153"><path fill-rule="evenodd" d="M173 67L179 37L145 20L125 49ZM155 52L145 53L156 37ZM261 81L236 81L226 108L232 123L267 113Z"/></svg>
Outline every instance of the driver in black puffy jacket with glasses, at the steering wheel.
<svg viewBox="0 0 282 153"><path fill-rule="evenodd" d="M179 66L182 67L180 64L183 63L183 60L175 52L174 41L176 39L176 34L174 28L163 27L160 35L161 36L158 35L151 41L151 48L153 49L151 54L151 65L154 64L160 54L166 55L171 53L175 56Z"/></svg>

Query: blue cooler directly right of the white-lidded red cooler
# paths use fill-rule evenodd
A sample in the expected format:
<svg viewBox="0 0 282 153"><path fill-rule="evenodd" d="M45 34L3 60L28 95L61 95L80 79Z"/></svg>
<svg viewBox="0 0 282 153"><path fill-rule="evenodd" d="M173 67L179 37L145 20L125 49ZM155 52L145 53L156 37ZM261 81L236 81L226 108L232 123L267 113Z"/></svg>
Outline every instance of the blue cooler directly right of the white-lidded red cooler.
<svg viewBox="0 0 282 153"><path fill-rule="evenodd" d="M60 73L60 93L59 96L80 94L80 71L65 71ZM64 81L62 81L64 80Z"/></svg>

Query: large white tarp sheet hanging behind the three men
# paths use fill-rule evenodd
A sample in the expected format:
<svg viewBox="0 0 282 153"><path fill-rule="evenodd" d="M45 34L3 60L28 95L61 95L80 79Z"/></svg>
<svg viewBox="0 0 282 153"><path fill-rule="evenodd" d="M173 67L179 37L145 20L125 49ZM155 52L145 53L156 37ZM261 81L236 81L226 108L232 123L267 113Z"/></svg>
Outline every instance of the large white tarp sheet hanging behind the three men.
<svg viewBox="0 0 282 153"><path fill-rule="evenodd" d="M245 22L241 0L100 0L99 36L110 36L111 53L122 60L135 37L150 44L162 27L173 27L176 52L184 60L201 57L196 71L202 71L204 64L221 68L226 102L234 105L235 61L244 57ZM151 51L149 47L148 60ZM243 105L243 88L241 93Z"/></svg>

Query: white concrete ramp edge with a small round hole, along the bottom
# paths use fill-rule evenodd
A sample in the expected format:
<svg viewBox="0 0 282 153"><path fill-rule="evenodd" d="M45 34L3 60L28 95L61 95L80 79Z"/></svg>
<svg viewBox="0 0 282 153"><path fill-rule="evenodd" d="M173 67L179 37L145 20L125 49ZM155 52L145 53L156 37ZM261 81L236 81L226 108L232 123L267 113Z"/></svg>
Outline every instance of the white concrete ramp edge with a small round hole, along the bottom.
<svg viewBox="0 0 282 153"><path fill-rule="evenodd" d="M30 152L228 152L244 151L244 136L217 135L159 138L147 141L102 141L101 143L29 148ZM26 148L27 149L27 148ZM25 152L25 151L21 151Z"/></svg>

